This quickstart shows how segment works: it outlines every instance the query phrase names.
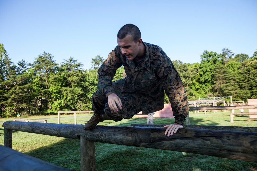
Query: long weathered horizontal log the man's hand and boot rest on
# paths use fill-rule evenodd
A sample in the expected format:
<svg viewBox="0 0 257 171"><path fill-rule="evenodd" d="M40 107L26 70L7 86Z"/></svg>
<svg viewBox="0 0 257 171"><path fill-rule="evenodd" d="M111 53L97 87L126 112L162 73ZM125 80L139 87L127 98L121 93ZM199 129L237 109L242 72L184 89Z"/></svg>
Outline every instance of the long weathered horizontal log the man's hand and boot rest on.
<svg viewBox="0 0 257 171"><path fill-rule="evenodd" d="M257 132L180 128L173 136L165 128L96 126L84 131L83 125L4 122L7 129L119 145L173 150L257 162Z"/></svg>

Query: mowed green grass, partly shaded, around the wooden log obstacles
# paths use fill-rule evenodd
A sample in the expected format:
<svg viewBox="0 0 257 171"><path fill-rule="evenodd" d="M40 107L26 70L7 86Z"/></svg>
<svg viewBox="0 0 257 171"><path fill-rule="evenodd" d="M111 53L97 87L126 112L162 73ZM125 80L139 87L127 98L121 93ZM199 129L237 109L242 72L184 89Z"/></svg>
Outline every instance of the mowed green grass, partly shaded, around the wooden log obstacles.
<svg viewBox="0 0 257 171"><path fill-rule="evenodd" d="M77 114L77 124L84 125L91 115ZM248 115L235 115L234 123L231 123L230 112L207 112L207 114L190 112L189 116L191 125L257 127L257 120L249 119ZM29 119L48 119L48 123L58 123L57 117L57 115L33 116ZM13 120L13 118L2 118L0 122L7 120ZM60 120L62 124L74 124L74 115L61 115ZM99 125L130 126L146 124L146 121L147 118L133 117L120 122L106 120ZM174 118L154 118L154 124L171 123L174 123ZM0 124L1 145L4 143L3 139L4 128ZM257 163L221 157L97 142L95 147L97 170L257 170ZM12 148L70 170L80 170L80 141L77 139L13 131ZM201 150L200 147L199 150Z"/></svg>

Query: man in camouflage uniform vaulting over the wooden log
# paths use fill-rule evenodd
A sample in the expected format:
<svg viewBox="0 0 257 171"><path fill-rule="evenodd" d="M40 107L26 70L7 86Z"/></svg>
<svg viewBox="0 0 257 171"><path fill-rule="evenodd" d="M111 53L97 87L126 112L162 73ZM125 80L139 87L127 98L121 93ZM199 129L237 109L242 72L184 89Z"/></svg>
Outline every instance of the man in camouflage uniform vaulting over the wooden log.
<svg viewBox="0 0 257 171"><path fill-rule="evenodd" d="M175 124L164 126L165 135L183 128L189 112L187 94L170 58L156 45L142 42L139 29L124 25L117 35L118 46L98 69L98 90L92 96L94 115L85 124L90 130L104 120L120 121L163 109L164 91L169 97ZM124 66L127 77L112 82L116 69Z"/></svg>

